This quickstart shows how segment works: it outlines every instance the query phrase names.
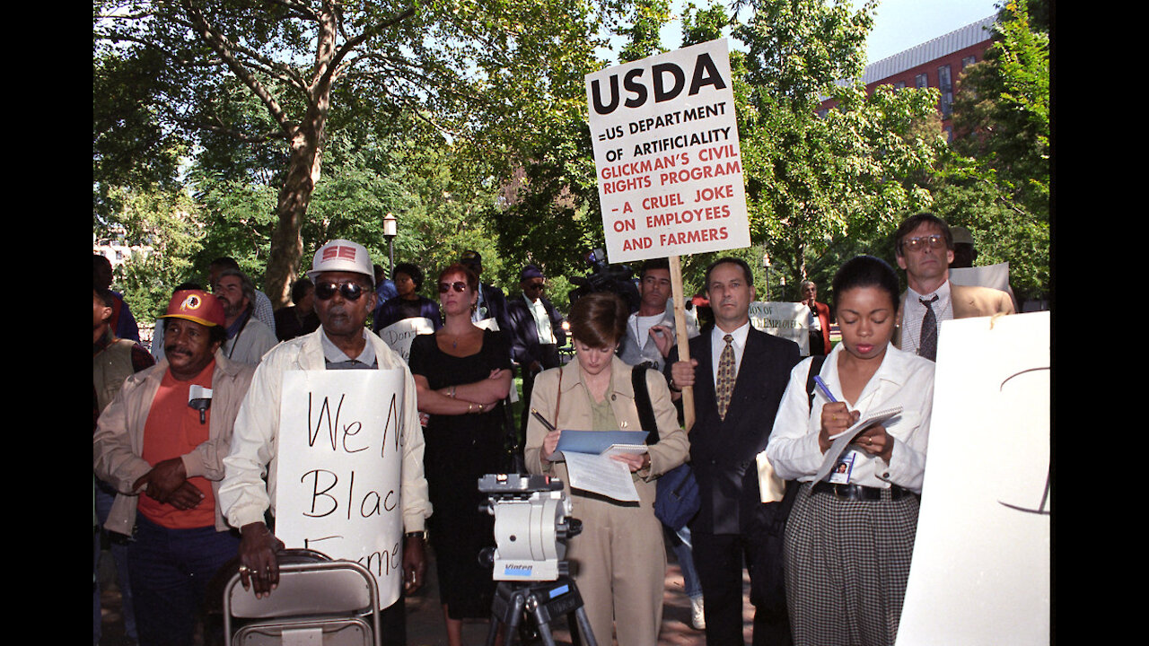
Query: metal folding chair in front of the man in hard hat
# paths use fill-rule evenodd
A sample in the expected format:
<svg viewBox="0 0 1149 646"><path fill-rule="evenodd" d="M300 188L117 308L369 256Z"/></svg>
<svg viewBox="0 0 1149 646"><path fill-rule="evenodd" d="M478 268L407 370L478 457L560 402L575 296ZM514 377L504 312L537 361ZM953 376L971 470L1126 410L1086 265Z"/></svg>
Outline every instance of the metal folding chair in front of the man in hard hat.
<svg viewBox="0 0 1149 646"><path fill-rule="evenodd" d="M225 646L380 646L379 590L367 568L311 549L278 560L279 585L263 599L238 572L228 582Z"/></svg>

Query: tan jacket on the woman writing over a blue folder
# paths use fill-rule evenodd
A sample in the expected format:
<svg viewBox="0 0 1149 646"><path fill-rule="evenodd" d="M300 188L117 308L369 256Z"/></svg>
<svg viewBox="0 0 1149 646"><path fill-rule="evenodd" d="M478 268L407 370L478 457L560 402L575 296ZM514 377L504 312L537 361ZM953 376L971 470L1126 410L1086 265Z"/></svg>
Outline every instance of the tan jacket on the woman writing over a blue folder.
<svg viewBox="0 0 1149 646"><path fill-rule="evenodd" d="M616 356L611 361L610 369L611 390L607 392L607 397L611 401L615 418L618 421L620 430L641 431L642 423L639 421L638 408L634 405L634 387L631 384L632 368ZM561 398L557 397L560 372L562 372ZM577 360L563 368L553 368L541 372L535 378L530 406L558 429L594 430L591 429L591 401L583 386L581 376L583 371ZM678 414L671 403L666 379L657 371L647 370L647 391L650 393L650 403L654 408L661 439L658 444L648 449L650 454L649 470L635 474L638 476L635 486L643 503L650 503L654 500L654 480L685 462L689 457L691 449L686 433L678 425ZM555 417L556 401L558 405L557 423ZM566 466L562 462L542 461L540 451L542 439L546 436L546 426L532 416L526 424L526 448L524 452L526 470L532 474L558 477L569 492ZM640 483L647 483L649 486L641 486Z"/></svg>

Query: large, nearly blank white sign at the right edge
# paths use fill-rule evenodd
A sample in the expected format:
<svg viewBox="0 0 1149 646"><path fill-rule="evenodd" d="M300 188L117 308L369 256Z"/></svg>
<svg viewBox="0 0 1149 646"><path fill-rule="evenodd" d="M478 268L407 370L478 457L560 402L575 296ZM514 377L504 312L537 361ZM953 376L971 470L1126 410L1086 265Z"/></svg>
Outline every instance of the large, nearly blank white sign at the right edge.
<svg viewBox="0 0 1149 646"><path fill-rule="evenodd" d="M899 646L1049 644L1049 323L941 325Z"/></svg>

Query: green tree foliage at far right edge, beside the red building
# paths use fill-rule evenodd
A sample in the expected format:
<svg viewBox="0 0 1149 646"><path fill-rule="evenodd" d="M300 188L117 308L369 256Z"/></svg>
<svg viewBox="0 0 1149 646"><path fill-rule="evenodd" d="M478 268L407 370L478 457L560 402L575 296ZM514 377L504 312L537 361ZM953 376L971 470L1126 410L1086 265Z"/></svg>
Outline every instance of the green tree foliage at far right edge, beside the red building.
<svg viewBox="0 0 1149 646"><path fill-rule="evenodd" d="M1049 34L1032 28L1020 2L1003 7L995 29L985 61L966 68L959 80L954 151L930 184L938 212L974 236L978 264L1009 262L1015 294L1044 298L1050 287Z"/></svg>

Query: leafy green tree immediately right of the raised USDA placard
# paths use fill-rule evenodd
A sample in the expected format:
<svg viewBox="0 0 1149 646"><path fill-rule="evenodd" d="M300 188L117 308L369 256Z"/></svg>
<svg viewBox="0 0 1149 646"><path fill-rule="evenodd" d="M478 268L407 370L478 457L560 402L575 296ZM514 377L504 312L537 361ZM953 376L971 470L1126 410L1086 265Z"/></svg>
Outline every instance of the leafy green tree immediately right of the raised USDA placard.
<svg viewBox="0 0 1149 646"><path fill-rule="evenodd" d="M739 5L750 10L734 29L749 48L745 86L735 84L735 92L745 97L739 138L750 232L789 285L787 299L797 298L797 283L808 276L825 284L820 276L832 274L839 260L834 251L854 247L843 241L873 241L907 212L930 203L916 180L928 174L942 144L940 129L923 126L938 118L936 94L865 93L859 77L874 6ZM836 107L819 116L827 97Z"/></svg>

